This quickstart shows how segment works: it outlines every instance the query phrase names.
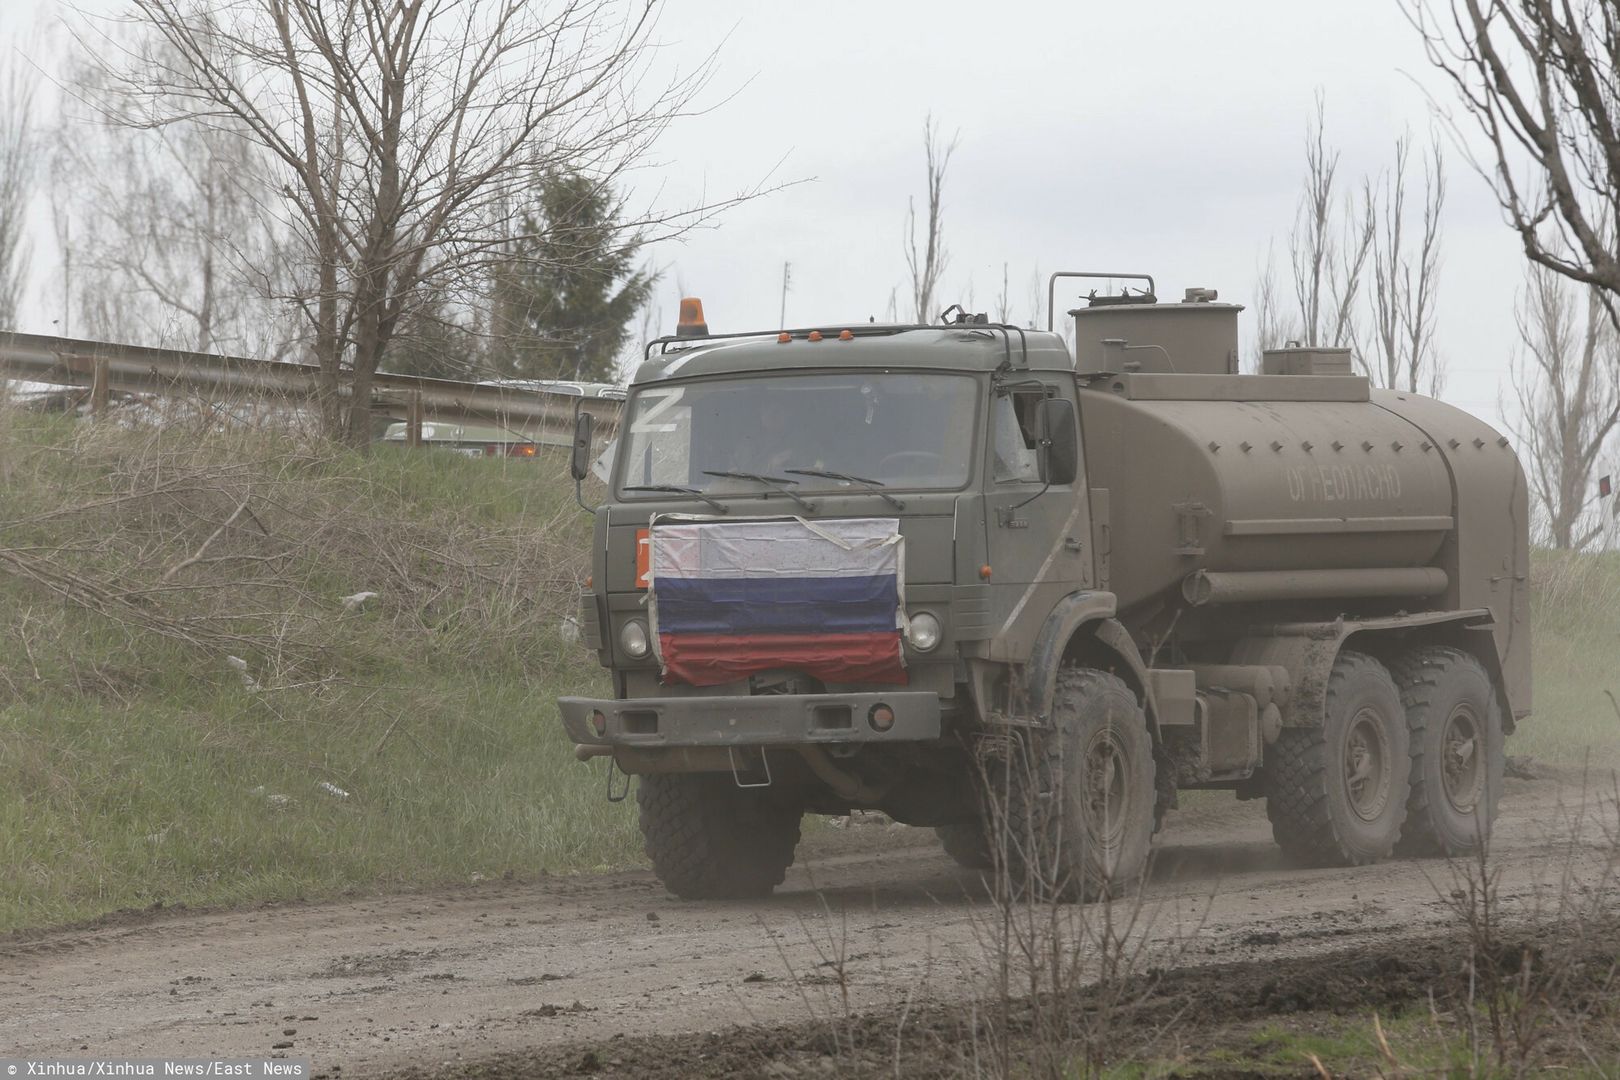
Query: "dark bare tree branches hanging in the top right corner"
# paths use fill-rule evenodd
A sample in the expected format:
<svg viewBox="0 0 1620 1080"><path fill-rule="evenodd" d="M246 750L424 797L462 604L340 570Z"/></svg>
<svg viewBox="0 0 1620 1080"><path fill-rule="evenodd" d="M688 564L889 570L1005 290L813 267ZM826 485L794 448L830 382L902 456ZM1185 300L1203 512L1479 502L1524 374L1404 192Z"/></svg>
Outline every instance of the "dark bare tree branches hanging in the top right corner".
<svg viewBox="0 0 1620 1080"><path fill-rule="evenodd" d="M1486 139L1473 164L1490 181L1524 254L1599 288L1617 319L1620 6L1609 0L1401 5Z"/></svg>

